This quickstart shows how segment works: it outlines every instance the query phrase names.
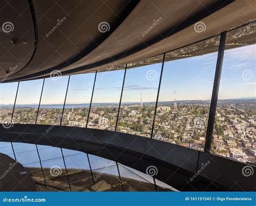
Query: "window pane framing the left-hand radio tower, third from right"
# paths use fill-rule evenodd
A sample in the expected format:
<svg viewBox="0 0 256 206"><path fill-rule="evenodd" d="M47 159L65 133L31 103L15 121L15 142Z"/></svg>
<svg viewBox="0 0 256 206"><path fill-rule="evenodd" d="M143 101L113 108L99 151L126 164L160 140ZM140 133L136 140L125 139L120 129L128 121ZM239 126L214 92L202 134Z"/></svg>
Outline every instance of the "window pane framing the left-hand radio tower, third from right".
<svg viewBox="0 0 256 206"><path fill-rule="evenodd" d="M163 59L163 55L156 58ZM161 63L147 64L127 66L117 131L150 138Z"/></svg>

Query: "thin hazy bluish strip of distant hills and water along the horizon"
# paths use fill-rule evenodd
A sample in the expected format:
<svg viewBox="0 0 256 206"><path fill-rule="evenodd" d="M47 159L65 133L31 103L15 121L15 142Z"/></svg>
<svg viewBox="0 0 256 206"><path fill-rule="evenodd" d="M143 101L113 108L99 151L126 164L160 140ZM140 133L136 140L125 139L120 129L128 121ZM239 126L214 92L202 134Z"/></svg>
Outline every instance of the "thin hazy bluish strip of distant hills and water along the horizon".
<svg viewBox="0 0 256 206"><path fill-rule="evenodd" d="M218 100L219 103L222 103L222 102L241 102L241 101L254 101L256 100L256 97L248 97L248 98L239 98L239 99L224 99L224 100ZM190 104L202 104L202 103L208 103L210 104L211 103L211 100L177 100L176 101L177 104L185 104L185 103L190 103ZM122 105L126 105L126 106L130 106L130 105L140 105L140 102L122 102ZM144 105L154 105L155 102L143 102ZM163 106L163 105L170 105L170 104L173 104L173 101L158 101L158 105L159 106ZM118 106L119 104L118 103L93 103L92 106ZM86 104L66 104L65 105L65 108L72 108L72 107L75 107L75 108L79 108L79 107L89 107L90 104L89 103L86 103ZM3 104L0 104L0 107L1 108L9 108L9 107L13 107L12 104L9 104L9 105L3 105ZM16 104L16 107L19 107L19 108L37 108L38 105L37 104L24 104L24 105L21 105L21 104ZM63 104L48 104L48 105L41 105L40 106L41 108L63 108Z"/></svg>

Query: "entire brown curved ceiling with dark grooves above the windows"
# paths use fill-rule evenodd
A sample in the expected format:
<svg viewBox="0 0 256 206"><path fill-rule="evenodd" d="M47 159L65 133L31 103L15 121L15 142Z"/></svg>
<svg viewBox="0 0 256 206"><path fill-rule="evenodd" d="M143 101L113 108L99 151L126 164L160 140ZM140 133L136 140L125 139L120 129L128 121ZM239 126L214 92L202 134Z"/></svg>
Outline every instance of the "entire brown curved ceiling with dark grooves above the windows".
<svg viewBox="0 0 256 206"><path fill-rule="evenodd" d="M255 10L256 1L246 0L1 1L0 78L27 80L53 70L68 75L133 63L245 24ZM194 30L198 21L205 31ZM102 22L109 27L101 32ZM9 31L6 23L12 24Z"/></svg>

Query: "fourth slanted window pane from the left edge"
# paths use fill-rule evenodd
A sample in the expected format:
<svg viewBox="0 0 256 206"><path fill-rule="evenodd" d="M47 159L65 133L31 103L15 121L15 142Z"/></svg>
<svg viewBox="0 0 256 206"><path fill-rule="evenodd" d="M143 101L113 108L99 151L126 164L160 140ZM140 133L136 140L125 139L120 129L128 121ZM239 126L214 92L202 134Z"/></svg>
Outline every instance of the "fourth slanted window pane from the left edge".
<svg viewBox="0 0 256 206"><path fill-rule="evenodd" d="M95 73L71 75L62 125L85 127Z"/></svg>

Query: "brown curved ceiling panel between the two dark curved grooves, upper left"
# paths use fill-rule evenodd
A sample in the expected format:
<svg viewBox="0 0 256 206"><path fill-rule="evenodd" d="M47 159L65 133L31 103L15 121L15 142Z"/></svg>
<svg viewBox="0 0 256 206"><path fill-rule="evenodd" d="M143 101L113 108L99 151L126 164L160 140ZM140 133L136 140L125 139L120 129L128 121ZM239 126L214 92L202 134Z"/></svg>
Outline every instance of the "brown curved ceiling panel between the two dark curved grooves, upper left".
<svg viewBox="0 0 256 206"><path fill-rule="evenodd" d="M129 0L118 3L114 0L34 1L38 26L36 54L15 77L48 69L60 70L75 63L99 46L137 3Z"/></svg>

